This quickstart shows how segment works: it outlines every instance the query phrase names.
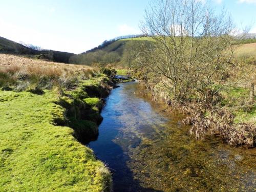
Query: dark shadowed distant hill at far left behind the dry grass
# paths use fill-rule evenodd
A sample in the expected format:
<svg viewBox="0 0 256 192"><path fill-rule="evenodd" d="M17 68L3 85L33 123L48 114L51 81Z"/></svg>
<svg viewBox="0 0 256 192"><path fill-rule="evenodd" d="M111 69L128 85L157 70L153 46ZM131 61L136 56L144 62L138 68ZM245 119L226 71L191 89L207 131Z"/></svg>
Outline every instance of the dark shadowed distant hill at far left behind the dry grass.
<svg viewBox="0 0 256 192"><path fill-rule="evenodd" d="M69 63L70 57L75 55L74 53L67 53L54 50L37 51L4 37L0 37L0 53L30 55L39 59L65 63Z"/></svg>

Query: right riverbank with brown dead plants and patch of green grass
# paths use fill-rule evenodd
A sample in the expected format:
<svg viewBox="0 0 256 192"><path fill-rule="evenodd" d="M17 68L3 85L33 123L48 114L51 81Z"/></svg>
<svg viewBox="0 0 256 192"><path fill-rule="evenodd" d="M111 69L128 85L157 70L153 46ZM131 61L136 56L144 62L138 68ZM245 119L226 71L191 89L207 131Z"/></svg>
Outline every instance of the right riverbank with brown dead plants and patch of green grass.
<svg viewBox="0 0 256 192"><path fill-rule="evenodd" d="M177 110L184 114L183 123L191 125L190 134L196 139L205 139L207 135L219 134L231 145L256 145L256 103L249 104L250 89L230 87L221 92L218 98L212 98L215 104L205 108L197 95L177 101L161 81L154 81L150 76L137 72L140 83L151 92L153 100L166 103L165 112ZM255 96L254 96L255 100Z"/></svg>

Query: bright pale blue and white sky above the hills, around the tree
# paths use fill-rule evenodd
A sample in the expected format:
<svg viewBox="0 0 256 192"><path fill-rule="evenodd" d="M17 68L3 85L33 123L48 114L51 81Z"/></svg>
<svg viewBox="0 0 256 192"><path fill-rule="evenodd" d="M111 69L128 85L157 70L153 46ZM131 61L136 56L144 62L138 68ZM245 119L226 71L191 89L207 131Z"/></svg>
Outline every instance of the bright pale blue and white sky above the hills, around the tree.
<svg viewBox="0 0 256 192"><path fill-rule="evenodd" d="M179 0L177 0L179 1ZM206 0L198 0L203 3ZM256 33L256 0L209 0ZM81 53L104 40L141 34L151 0L0 0L0 36L44 49Z"/></svg>

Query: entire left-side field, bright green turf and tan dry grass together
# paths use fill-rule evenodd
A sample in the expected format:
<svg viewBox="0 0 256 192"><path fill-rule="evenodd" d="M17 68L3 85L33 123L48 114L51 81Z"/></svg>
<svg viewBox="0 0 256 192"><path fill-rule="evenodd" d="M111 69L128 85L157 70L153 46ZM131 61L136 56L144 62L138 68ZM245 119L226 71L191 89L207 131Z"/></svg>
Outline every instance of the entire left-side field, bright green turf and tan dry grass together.
<svg viewBox="0 0 256 192"><path fill-rule="evenodd" d="M80 115L99 116L86 90L106 77L92 71L0 54L0 191L109 191L108 168L77 141L97 135L96 121Z"/></svg>

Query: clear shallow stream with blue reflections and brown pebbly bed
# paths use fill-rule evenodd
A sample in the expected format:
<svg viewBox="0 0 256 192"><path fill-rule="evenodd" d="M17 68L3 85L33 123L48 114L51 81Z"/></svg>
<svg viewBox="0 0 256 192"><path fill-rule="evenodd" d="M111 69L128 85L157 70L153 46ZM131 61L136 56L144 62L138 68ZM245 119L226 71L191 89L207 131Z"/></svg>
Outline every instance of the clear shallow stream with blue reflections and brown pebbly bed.
<svg viewBox="0 0 256 192"><path fill-rule="evenodd" d="M166 114L137 82L120 83L89 143L113 173L114 191L255 191L255 148L218 136L196 141L176 112Z"/></svg>

